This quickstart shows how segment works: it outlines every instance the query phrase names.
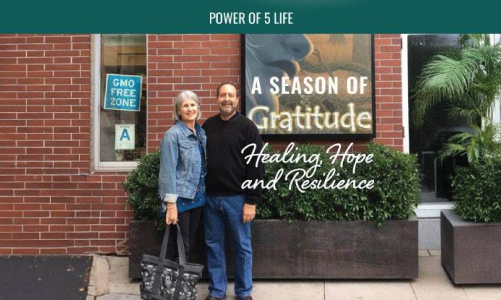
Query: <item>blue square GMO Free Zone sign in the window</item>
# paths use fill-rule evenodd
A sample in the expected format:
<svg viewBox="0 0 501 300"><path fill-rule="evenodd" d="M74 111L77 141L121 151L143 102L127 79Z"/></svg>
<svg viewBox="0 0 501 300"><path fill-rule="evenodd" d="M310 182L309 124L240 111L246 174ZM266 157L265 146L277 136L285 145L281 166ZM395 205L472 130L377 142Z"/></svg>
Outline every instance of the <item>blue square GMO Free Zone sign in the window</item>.
<svg viewBox="0 0 501 300"><path fill-rule="evenodd" d="M139 111L142 76L106 74L104 109Z"/></svg>

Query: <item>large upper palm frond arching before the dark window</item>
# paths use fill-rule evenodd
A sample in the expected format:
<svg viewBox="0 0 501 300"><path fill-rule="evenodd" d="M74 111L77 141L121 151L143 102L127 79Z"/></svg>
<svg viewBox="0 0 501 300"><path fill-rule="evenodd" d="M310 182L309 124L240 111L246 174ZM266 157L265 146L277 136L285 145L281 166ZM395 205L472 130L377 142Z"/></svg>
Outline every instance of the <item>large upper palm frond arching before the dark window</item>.
<svg viewBox="0 0 501 300"><path fill-rule="evenodd" d="M489 117L492 103L501 93L501 42L492 43L489 34L461 34L458 44L459 54L451 51L433 56L417 78L412 95L416 127L422 126L432 106L443 101L458 107L450 110L453 115L468 116L472 123ZM459 112L461 107L467 111Z"/></svg>

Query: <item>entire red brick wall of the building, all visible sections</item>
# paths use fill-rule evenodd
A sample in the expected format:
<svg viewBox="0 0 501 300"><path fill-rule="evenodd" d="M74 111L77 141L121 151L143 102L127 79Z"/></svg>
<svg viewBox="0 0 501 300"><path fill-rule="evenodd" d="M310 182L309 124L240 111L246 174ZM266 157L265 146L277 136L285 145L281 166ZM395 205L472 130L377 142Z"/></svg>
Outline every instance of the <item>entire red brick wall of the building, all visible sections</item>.
<svg viewBox="0 0 501 300"><path fill-rule="evenodd" d="M126 173L91 168L90 46L85 34L0 35L0 254L126 250ZM376 141L402 149L400 47L399 34L375 36ZM151 152L179 90L200 96L202 121L217 112L215 87L240 81L239 35L150 34L147 64Z"/></svg>

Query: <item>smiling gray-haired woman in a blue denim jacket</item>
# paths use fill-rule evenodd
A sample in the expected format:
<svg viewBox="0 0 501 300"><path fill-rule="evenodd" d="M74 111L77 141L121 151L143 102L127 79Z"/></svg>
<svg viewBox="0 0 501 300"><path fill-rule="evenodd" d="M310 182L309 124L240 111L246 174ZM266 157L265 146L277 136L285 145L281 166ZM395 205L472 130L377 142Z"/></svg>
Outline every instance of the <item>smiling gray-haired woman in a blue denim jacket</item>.
<svg viewBox="0 0 501 300"><path fill-rule="evenodd" d="M205 131L196 122L200 118L198 96L189 90L180 92L174 103L172 126L160 146L158 191L167 225L179 223L186 260L205 203ZM177 232L171 230L171 233ZM170 234L168 254L177 251L176 234Z"/></svg>

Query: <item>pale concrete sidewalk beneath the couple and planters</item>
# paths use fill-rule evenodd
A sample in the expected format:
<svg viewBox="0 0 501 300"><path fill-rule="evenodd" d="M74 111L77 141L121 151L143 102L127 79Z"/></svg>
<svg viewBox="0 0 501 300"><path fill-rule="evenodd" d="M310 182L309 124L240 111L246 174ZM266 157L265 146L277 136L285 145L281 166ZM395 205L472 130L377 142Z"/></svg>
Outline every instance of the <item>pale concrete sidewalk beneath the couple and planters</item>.
<svg viewBox="0 0 501 300"><path fill-rule="evenodd" d="M127 277L128 258L94 255L87 300L139 300L139 283ZM198 298L207 296L199 283ZM228 284L227 300L236 299ZM501 285L455 286L440 264L440 252L419 251L414 280L255 280L256 300L499 300Z"/></svg>

